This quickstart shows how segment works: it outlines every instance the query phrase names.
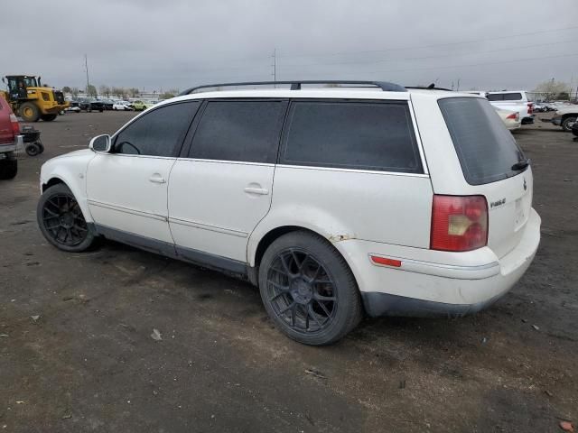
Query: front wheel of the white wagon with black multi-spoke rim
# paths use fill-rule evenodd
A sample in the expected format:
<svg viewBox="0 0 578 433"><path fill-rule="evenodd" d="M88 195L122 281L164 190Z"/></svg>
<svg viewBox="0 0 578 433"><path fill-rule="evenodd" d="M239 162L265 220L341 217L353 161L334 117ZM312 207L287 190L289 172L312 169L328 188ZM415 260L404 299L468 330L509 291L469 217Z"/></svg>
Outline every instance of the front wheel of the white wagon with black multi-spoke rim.
<svg viewBox="0 0 578 433"><path fill-rule="evenodd" d="M44 191L36 207L36 219L46 240L62 251L79 253L94 244L93 229L74 194L62 183Z"/></svg>

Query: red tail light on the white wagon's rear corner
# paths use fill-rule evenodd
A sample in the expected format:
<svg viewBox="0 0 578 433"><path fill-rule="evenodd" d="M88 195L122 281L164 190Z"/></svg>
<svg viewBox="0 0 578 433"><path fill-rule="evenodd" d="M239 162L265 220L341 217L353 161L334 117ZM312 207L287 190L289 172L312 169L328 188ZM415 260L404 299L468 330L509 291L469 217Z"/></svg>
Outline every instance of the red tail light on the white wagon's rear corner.
<svg viewBox="0 0 578 433"><path fill-rule="evenodd" d="M488 202L484 196L433 196L430 247L471 251L488 244Z"/></svg>

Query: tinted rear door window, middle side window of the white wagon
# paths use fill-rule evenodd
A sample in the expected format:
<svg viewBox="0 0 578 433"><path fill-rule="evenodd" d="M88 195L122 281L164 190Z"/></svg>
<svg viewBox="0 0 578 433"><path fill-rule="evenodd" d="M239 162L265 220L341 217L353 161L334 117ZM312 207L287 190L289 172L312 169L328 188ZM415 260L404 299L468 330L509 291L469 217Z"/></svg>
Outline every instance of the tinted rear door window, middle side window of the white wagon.
<svg viewBox="0 0 578 433"><path fill-rule="evenodd" d="M275 162L285 107L281 101L210 101L190 158Z"/></svg>

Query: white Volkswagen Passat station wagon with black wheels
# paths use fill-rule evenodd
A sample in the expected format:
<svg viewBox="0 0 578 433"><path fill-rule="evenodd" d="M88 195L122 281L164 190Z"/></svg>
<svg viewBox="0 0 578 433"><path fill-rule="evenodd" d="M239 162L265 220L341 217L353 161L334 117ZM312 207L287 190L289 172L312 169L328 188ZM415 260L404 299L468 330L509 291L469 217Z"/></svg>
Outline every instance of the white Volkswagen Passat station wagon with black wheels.
<svg viewBox="0 0 578 433"><path fill-rule="evenodd" d="M309 345L364 310L459 317L516 283L540 217L528 161L485 98L301 84L191 89L47 161L42 234L64 251L103 236L242 276Z"/></svg>

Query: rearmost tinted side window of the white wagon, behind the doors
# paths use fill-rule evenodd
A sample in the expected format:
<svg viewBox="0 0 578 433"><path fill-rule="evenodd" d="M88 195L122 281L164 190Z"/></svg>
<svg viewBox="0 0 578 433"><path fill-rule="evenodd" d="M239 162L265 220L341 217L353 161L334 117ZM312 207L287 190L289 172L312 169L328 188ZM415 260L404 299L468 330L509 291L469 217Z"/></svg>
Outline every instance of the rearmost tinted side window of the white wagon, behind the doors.
<svg viewBox="0 0 578 433"><path fill-rule="evenodd" d="M405 102L294 102L282 162L421 173Z"/></svg>

